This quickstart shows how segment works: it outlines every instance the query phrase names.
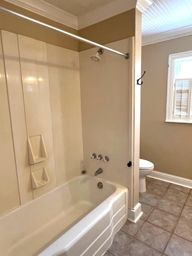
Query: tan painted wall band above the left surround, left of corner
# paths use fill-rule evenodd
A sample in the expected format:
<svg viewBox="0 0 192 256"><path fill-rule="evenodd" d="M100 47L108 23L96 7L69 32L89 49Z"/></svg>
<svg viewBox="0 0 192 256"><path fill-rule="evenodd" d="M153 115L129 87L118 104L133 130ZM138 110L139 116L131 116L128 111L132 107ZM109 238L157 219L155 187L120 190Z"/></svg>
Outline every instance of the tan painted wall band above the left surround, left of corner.
<svg viewBox="0 0 192 256"><path fill-rule="evenodd" d="M48 25L56 27L58 29L63 29L67 32L78 35L76 29L72 29L61 23L49 20L41 15L35 14L33 12L27 11L26 9L20 8L16 5L12 5L6 1L0 0L0 5L4 8L10 9L12 11L18 12L32 19L39 20ZM60 32L48 29L29 20L24 20L22 18L4 13L0 11L0 29L7 30L19 35L25 35L27 37L35 38L40 41L44 41L48 44L57 45L74 51L78 51L78 41L61 34Z"/></svg>

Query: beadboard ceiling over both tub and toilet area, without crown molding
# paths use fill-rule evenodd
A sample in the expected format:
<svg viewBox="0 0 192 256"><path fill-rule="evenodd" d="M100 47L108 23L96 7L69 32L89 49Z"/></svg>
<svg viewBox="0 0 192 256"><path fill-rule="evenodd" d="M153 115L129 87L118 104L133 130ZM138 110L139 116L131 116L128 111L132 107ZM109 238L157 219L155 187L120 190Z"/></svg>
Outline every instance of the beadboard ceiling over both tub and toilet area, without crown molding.
<svg viewBox="0 0 192 256"><path fill-rule="evenodd" d="M79 17L116 0L40 1ZM118 1L116 2L118 4ZM192 0L153 0L153 4L143 13L142 36L155 35L189 25L192 25Z"/></svg>

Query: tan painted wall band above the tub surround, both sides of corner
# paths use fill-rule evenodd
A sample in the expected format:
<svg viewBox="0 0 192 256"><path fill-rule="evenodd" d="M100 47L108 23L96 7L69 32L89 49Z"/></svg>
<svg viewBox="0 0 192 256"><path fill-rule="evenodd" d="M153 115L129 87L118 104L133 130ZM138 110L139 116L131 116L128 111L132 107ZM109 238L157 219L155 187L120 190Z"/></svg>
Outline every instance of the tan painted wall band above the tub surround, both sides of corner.
<svg viewBox="0 0 192 256"><path fill-rule="evenodd" d="M78 31L3 0L0 0L0 5L99 44L107 44L135 35L135 9L115 15ZM67 37L60 32L4 12L0 12L0 29L74 51L82 51L94 47L90 44Z"/></svg>

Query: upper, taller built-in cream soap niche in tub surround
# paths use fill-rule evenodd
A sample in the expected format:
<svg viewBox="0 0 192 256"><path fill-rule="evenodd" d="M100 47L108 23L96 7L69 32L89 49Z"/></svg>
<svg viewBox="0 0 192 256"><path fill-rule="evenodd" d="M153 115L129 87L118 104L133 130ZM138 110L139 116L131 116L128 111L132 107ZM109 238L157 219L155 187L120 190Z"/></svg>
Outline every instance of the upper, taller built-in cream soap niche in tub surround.
<svg viewBox="0 0 192 256"><path fill-rule="evenodd" d="M47 159L43 135L29 137L28 145L30 164L36 164Z"/></svg>

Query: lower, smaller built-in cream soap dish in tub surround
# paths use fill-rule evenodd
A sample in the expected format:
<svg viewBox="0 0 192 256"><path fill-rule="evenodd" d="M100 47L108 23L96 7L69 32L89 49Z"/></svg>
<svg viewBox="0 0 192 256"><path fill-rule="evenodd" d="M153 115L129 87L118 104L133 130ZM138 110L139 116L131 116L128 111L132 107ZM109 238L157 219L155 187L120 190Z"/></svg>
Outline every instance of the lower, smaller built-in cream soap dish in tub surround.
<svg viewBox="0 0 192 256"><path fill-rule="evenodd" d="M45 167L35 170L31 174L33 188L40 188L49 182L49 176Z"/></svg>

